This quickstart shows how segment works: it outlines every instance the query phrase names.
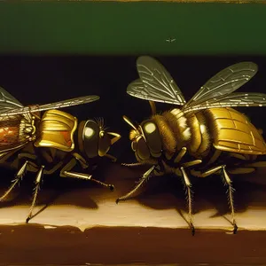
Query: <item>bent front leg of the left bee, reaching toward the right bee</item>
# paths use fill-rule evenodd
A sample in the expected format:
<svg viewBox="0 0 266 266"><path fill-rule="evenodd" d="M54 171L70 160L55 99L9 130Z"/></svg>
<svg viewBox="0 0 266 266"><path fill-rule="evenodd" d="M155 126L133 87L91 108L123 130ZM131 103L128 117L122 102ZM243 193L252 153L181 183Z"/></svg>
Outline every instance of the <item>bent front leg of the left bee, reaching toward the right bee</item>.
<svg viewBox="0 0 266 266"><path fill-rule="evenodd" d="M93 179L91 175L83 174L83 173L77 173L71 171L72 168L76 165L76 158L72 158L64 168L60 171L61 177L73 177L73 178L79 178L79 179L85 179L90 180L94 183L100 184L102 186L105 186L110 189L110 191L113 191L114 187L113 184L106 184L99 180Z"/></svg>

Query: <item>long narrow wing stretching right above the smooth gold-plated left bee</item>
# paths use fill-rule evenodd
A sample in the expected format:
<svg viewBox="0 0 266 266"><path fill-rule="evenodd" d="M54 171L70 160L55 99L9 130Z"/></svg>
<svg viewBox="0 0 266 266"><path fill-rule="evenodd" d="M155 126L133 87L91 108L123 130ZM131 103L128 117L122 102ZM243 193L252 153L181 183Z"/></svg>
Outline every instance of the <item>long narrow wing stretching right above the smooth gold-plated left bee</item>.
<svg viewBox="0 0 266 266"><path fill-rule="evenodd" d="M47 104L47 105L43 105L43 106L25 106L22 108L12 109L11 111L8 111L5 113L0 113L0 117L12 115L12 114L19 114L19 113L38 112L38 111L45 111L45 110L50 110L50 109L59 109L59 108L64 108L64 107L68 107L68 106L78 106L78 105L88 104L88 103L96 101L98 99L99 99L98 96L90 95L90 96L83 96L83 97L78 97L78 98L71 98L71 99L67 99L67 100L63 100L60 102Z"/></svg>

